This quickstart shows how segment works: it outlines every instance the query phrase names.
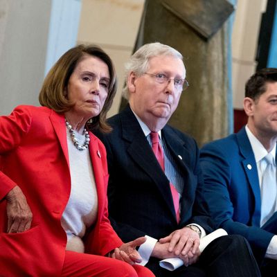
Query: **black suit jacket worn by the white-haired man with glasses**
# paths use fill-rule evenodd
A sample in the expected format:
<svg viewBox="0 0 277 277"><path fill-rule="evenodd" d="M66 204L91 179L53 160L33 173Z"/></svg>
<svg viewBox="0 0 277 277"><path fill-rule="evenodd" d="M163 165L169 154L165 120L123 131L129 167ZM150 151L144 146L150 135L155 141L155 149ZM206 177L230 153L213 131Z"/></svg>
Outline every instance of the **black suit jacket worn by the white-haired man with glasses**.
<svg viewBox="0 0 277 277"><path fill-rule="evenodd" d="M107 150L109 213L120 238L127 242L146 234L159 239L192 222L207 233L213 231L201 199L202 174L195 141L169 126L161 131L184 178L178 226L169 181L129 106L110 118L109 124L113 132L96 135Z"/></svg>

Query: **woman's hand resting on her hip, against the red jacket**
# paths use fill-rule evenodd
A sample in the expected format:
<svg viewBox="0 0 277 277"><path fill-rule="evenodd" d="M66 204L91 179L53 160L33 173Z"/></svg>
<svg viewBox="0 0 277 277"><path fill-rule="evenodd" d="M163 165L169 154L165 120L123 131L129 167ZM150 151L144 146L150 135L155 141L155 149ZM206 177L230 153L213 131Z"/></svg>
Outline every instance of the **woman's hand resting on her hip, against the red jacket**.
<svg viewBox="0 0 277 277"><path fill-rule="evenodd" d="M19 186L15 186L6 195L8 229L7 233L21 233L30 229L33 214L26 197Z"/></svg>

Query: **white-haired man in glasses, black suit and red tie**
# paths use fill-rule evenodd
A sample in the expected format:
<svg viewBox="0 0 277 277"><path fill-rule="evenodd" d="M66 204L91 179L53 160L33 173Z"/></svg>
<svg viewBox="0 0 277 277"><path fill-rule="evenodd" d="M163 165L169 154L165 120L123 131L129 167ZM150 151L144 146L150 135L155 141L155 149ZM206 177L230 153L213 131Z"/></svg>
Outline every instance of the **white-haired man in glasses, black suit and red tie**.
<svg viewBox="0 0 277 277"><path fill-rule="evenodd" d="M156 276L260 276L242 236L213 240L200 254L199 238L213 231L195 141L166 123L188 86L181 54L170 46L145 44L126 65L129 105L110 118L107 148L109 214L123 239L146 235L139 248ZM159 266L181 258L175 271Z"/></svg>

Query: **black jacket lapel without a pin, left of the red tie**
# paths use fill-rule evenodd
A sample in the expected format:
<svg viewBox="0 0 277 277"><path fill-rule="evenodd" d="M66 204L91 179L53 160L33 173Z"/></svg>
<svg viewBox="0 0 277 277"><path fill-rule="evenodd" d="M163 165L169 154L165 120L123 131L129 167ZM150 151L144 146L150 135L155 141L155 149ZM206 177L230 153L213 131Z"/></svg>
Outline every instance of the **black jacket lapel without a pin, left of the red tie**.
<svg viewBox="0 0 277 277"><path fill-rule="evenodd" d="M153 180L170 208L172 216L176 217L169 181L129 106L120 114L120 119L123 130L122 136L127 143L129 156Z"/></svg>

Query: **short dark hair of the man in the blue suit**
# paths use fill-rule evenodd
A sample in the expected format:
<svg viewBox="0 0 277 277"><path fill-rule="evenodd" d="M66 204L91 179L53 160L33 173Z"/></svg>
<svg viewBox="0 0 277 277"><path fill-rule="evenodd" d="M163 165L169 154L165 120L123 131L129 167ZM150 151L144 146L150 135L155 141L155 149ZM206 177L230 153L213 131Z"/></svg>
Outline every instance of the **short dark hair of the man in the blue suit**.
<svg viewBox="0 0 277 277"><path fill-rule="evenodd" d="M245 84L245 97L257 100L267 90L268 82L277 82L277 69L260 69Z"/></svg>

